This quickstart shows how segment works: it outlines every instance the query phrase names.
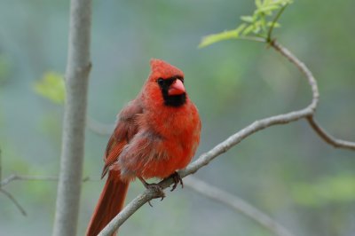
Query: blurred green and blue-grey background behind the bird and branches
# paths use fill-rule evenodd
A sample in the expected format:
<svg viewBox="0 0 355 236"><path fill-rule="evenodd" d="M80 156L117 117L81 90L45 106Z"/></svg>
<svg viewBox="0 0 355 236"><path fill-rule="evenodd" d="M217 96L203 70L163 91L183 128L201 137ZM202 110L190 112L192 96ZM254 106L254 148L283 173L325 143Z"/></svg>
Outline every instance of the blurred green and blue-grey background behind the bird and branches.
<svg viewBox="0 0 355 236"><path fill-rule="evenodd" d="M63 107L36 94L46 73L64 74L69 1L0 2L2 177L58 175ZM306 106L304 77L262 43L226 41L198 50L201 36L235 28L254 1L93 1L88 114L112 123L159 58L185 71L208 151L257 119ZM338 138L355 140L355 2L296 0L275 35L318 79L316 118ZM54 74L56 75L56 74ZM99 177L108 137L86 132L83 175ZM335 149L305 121L260 131L196 173L250 202L296 235L355 235L355 153ZM104 181L83 184L83 235ZM50 235L56 182L12 182L0 194L0 235ZM133 183L128 201L143 186ZM185 188L144 206L122 235L272 235L245 216Z"/></svg>

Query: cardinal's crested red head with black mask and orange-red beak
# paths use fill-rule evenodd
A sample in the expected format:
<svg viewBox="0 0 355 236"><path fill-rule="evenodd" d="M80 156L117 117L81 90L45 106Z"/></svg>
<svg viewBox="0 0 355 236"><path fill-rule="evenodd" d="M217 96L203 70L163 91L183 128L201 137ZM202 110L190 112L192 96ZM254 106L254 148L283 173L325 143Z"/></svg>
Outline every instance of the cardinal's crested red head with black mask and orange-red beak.
<svg viewBox="0 0 355 236"><path fill-rule="evenodd" d="M182 106L186 101L184 73L162 59L151 59L148 86L166 106Z"/></svg>

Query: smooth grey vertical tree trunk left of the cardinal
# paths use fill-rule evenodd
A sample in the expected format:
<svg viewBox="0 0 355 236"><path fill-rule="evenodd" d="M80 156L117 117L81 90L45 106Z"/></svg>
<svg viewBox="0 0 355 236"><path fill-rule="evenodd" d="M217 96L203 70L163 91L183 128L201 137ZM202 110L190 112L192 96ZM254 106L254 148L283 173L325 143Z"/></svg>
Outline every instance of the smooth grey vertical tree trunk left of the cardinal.
<svg viewBox="0 0 355 236"><path fill-rule="evenodd" d="M91 0L72 0L59 185L53 236L76 234L90 61Z"/></svg>

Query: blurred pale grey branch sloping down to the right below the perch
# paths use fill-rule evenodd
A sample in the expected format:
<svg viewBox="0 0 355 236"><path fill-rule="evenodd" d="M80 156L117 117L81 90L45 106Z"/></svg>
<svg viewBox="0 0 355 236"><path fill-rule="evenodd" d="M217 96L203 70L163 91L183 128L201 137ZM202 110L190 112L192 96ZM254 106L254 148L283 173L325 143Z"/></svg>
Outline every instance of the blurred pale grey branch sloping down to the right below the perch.
<svg viewBox="0 0 355 236"><path fill-rule="evenodd" d="M185 186L191 188L193 191L200 193L212 200L219 201L225 204L228 208L233 208L241 214L248 216L256 223L264 226L275 235L279 236L293 236L284 226L267 216L262 211L250 205L248 202L241 200L239 197L227 193L213 185L209 185L196 177L187 177L184 181Z"/></svg>

